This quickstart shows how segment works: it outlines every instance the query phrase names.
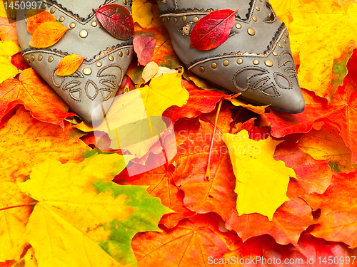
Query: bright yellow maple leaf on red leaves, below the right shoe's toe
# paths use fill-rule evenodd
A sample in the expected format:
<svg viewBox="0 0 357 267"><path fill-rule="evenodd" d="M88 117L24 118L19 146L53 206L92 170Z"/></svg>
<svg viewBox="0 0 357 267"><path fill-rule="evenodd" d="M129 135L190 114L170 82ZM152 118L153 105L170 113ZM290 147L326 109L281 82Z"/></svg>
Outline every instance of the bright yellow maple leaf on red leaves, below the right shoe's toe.
<svg viewBox="0 0 357 267"><path fill-rule="evenodd" d="M250 140L246 130L237 135L225 133L222 139L236 175L238 214L256 212L271 221L276 209L289 200L286 197L289 177L296 177L283 161L273 159L275 147L281 142L271 137L258 142Z"/></svg>

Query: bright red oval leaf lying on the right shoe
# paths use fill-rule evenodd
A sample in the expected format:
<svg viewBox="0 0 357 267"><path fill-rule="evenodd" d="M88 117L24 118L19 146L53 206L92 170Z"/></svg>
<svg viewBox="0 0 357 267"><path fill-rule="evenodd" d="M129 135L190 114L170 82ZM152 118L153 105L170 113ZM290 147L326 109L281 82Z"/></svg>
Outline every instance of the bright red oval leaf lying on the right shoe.
<svg viewBox="0 0 357 267"><path fill-rule="evenodd" d="M234 16L236 11L231 9L216 10L203 16L193 26L190 37L191 47L205 51L221 46L231 33L236 21L236 16Z"/></svg>

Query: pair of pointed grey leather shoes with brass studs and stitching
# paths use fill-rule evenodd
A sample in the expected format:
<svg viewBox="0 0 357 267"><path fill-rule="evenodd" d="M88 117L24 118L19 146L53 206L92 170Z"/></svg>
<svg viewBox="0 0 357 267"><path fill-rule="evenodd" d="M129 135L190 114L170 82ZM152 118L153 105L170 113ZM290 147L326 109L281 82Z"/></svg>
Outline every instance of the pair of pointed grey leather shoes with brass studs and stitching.
<svg viewBox="0 0 357 267"><path fill-rule="evenodd" d="M101 103L111 103L134 51L133 38L119 40L105 31L93 9L119 4L131 11L131 1L26 1L36 2L72 29L54 46L33 48L29 46L27 10L19 9L16 27L23 56L82 119L101 120L103 113L92 111L98 110L95 108ZM303 111L305 102L288 31L267 0L158 0L158 3L174 49L188 70L222 88L241 93L242 98L253 103L291 113ZM191 48L190 35L195 23L220 9L238 9L227 40L208 51ZM78 54L86 60L74 74L56 75L59 61L69 54Z"/></svg>

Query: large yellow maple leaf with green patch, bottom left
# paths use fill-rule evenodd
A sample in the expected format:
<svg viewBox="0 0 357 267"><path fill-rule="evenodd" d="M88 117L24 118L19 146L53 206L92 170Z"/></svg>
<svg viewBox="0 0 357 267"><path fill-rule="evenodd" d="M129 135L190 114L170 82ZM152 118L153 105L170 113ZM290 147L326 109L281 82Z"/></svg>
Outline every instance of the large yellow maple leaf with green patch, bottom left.
<svg viewBox="0 0 357 267"><path fill-rule="evenodd" d="M147 187L111 182L131 158L96 155L79 164L48 159L19 183L39 201L26 226L39 266L136 266L131 239L139 231L160 231L161 216L171 209Z"/></svg>

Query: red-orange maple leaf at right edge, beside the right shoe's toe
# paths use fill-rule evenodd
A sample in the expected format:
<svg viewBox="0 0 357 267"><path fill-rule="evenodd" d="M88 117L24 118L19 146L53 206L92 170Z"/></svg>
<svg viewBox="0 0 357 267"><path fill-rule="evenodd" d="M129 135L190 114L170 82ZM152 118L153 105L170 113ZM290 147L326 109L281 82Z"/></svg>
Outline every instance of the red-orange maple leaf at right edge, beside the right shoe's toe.
<svg viewBox="0 0 357 267"><path fill-rule="evenodd" d="M283 137L296 132L308 132L316 120L332 121L341 129L340 135L351 151L351 164L357 164L357 140L354 138L357 135L357 51L354 51L347 67L348 75L343 86L333 95L331 103L304 91L304 112L292 115L272 111L268 114L271 134L274 137Z"/></svg>

